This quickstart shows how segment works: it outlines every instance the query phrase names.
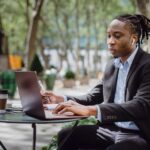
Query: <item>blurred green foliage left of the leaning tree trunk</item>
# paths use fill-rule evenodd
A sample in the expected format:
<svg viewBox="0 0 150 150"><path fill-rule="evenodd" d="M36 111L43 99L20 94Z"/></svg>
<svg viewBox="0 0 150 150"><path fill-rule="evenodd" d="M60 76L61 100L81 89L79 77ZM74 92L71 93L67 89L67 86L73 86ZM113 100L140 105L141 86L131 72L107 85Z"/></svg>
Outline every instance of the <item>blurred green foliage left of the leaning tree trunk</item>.
<svg viewBox="0 0 150 150"><path fill-rule="evenodd" d="M25 1L0 0L0 8L0 19L4 32L9 39L10 53L23 51L28 28L25 16Z"/></svg>

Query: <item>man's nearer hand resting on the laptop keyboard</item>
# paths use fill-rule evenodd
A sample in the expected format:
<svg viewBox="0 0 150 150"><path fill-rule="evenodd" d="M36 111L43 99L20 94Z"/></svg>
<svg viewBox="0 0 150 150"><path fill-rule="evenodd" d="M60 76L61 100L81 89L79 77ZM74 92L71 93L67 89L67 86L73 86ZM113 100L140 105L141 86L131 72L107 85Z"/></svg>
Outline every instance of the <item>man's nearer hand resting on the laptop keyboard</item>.
<svg viewBox="0 0 150 150"><path fill-rule="evenodd" d="M96 106L84 106L74 101L60 103L53 111L56 114L72 112L74 115L80 116L96 116Z"/></svg>

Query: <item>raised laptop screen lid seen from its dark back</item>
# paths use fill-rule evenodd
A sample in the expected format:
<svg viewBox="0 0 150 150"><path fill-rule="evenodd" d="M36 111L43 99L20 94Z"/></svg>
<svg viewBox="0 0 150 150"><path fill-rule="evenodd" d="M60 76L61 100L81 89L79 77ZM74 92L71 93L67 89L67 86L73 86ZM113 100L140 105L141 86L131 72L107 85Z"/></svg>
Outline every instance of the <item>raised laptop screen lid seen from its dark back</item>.
<svg viewBox="0 0 150 150"><path fill-rule="evenodd" d="M16 71L15 73L23 111L30 116L44 119L45 113L36 72Z"/></svg>

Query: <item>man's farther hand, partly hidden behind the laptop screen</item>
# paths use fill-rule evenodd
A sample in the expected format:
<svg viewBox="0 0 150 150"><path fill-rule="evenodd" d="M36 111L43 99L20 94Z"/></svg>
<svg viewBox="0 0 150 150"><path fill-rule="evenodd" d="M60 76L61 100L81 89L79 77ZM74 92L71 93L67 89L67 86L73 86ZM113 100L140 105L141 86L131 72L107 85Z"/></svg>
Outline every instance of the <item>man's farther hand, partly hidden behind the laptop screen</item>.
<svg viewBox="0 0 150 150"><path fill-rule="evenodd" d="M43 104L56 104L64 102L64 97L51 91L41 91Z"/></svg>

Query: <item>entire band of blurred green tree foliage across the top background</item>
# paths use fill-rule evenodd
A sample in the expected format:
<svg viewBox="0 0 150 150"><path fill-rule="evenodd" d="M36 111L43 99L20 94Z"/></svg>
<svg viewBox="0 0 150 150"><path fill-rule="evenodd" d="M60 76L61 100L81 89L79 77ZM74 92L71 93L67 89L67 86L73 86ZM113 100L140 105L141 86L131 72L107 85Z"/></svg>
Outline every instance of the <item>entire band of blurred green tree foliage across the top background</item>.
<svg viewBox="0 0 150 150"><path fill-rule="evenodd" d="M32 17L34 0L0 0L0 16L5 33L9 37L10 52L25 50L28 21ZM11 5L10 5L11 4ZM97 26L99 41L105 41L105 27L108 22L120 13L134 13L135 6L131 0L82 0L78 3L80 37L87 37L87 9L89 9L90 36L95 34ZM49 13L47 13L49 12ZM47 37L50 46L70 44L76 38L76 1L45 0L39 23L38 39ZM96 22L93 21L96 20ZM58 21L58 24L57 24ZM37 43L37 47L39 43ZM40 48L40 47L38 47Z"/></svg>

